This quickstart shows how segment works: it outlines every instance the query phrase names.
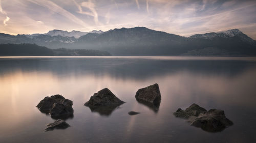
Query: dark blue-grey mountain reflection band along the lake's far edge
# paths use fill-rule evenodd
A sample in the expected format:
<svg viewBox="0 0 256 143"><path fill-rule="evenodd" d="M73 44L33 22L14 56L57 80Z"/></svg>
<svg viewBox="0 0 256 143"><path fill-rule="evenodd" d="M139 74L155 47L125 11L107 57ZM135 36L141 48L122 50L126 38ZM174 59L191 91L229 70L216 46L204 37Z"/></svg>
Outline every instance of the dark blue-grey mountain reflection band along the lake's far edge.
<svg viewBox="0 0 256 143"><path fill-rule="evenodd" d="M190 58L189 58L190 59ZM93 74L110 75L114 78L135 78L144 80L153 76L189 71L205 75L222 74L236 76L249 68L255 61L244 60L148 60L148 59L0 59L1 75L20 70L23 72L49 72L54 76ZM154 66L152 66L154 65ZM72 76L71 75L71 76Z"/></svg>

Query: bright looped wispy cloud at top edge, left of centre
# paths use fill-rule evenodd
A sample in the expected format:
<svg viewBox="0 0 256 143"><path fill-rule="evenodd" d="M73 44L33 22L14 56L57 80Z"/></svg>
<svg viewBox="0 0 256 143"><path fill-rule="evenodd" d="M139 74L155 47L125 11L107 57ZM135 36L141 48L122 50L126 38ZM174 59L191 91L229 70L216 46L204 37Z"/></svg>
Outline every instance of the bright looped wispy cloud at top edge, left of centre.
<svg viewBox="0 0 256 143"><path fill-rule="evenodd" d="M98 20L98 13L95 10L95 4L93 2L91 2L91 0L89 0L88 2L82 2L82 3L80 3L80 5L78 5L75 0L73 0L73 1L74 1L75 5L77 6L78 10L79 10L78 13L92 16L92 17L94 17L94 22L98 23L98 21L99 21ZM90 12L83 11L82 7L88 8L90 10Z"/></svg>

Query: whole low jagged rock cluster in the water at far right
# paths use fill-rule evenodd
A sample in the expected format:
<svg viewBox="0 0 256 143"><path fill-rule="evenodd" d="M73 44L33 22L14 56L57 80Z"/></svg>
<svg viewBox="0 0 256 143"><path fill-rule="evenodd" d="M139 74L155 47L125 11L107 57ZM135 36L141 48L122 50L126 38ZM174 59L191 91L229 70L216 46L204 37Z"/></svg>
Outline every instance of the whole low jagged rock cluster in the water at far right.
<svg viewBox="0 0 256 143"><path fill-rule="evenodd" d="M191 126L199 127L208 132L219 132L232 126L233 123L226 118L223 110L206 110L197 104L192 104L185 110L179 108L174 115L179 118L188 119Z"/></svg>

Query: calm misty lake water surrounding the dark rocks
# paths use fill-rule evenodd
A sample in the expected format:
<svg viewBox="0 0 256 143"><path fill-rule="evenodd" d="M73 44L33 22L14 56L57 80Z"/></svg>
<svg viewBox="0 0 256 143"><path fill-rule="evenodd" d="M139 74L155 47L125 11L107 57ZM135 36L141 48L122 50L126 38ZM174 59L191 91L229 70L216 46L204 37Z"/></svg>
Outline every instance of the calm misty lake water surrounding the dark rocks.
<svg viewBox="0 0 256 143"><path fill-rule="evenodd" d="M135 99L154 83L158 110ZM126 103L108 115L83 106L103 88ZM71 127L44 132L54 120L35 106L55 94L73 101L74 117ZM173 115L192 103L223 109L234 125L211 133ZM0 142L256 142L255 103L256 58L0 58Z"/></svg>

